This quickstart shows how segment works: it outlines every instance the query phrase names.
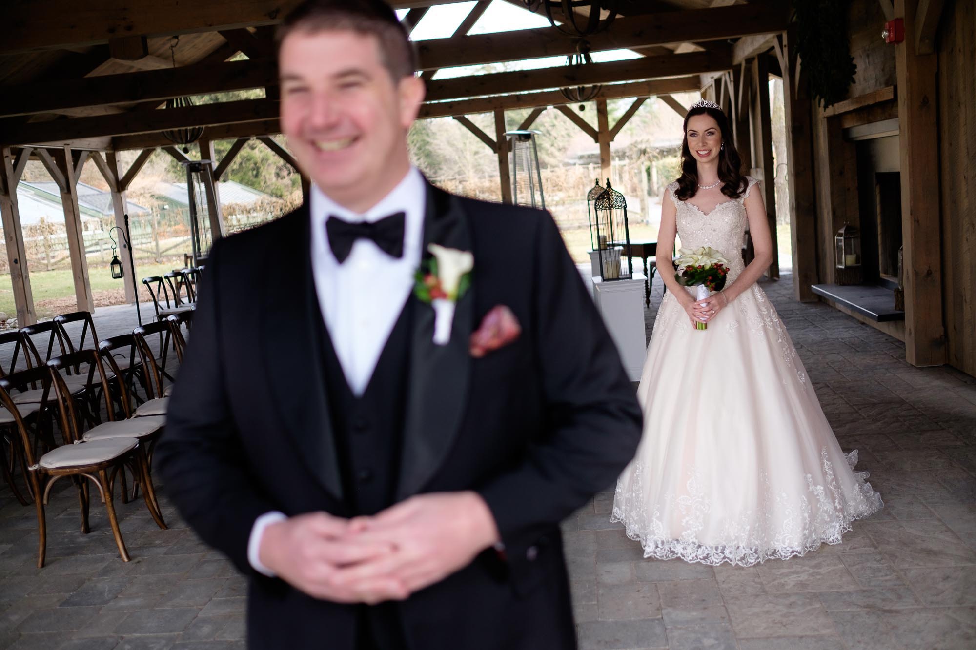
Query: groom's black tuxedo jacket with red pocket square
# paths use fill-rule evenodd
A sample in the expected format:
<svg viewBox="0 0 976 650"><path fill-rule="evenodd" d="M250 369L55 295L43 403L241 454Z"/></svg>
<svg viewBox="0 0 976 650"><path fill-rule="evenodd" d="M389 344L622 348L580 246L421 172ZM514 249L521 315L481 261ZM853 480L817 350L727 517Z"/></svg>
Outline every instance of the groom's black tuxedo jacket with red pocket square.
<svg viewBox="0 0 976 650"><path fill-rule="evenodd" d="M266 511L343 514L309 227L302 208L214 246L155 452L185 520L251 577L252 648L353 647L354 607L265 578L247 560ZM404 634L419 650L575 647L558 524L633 456L634 390L547 213L428 186L429 242L471 251L474 270L448 345L431 341L433 310L413 305L396 500L475 490L505 553L487 550L398 603ZM468 337L495 305L511 308L522 335L472 358Z"/></svg>

